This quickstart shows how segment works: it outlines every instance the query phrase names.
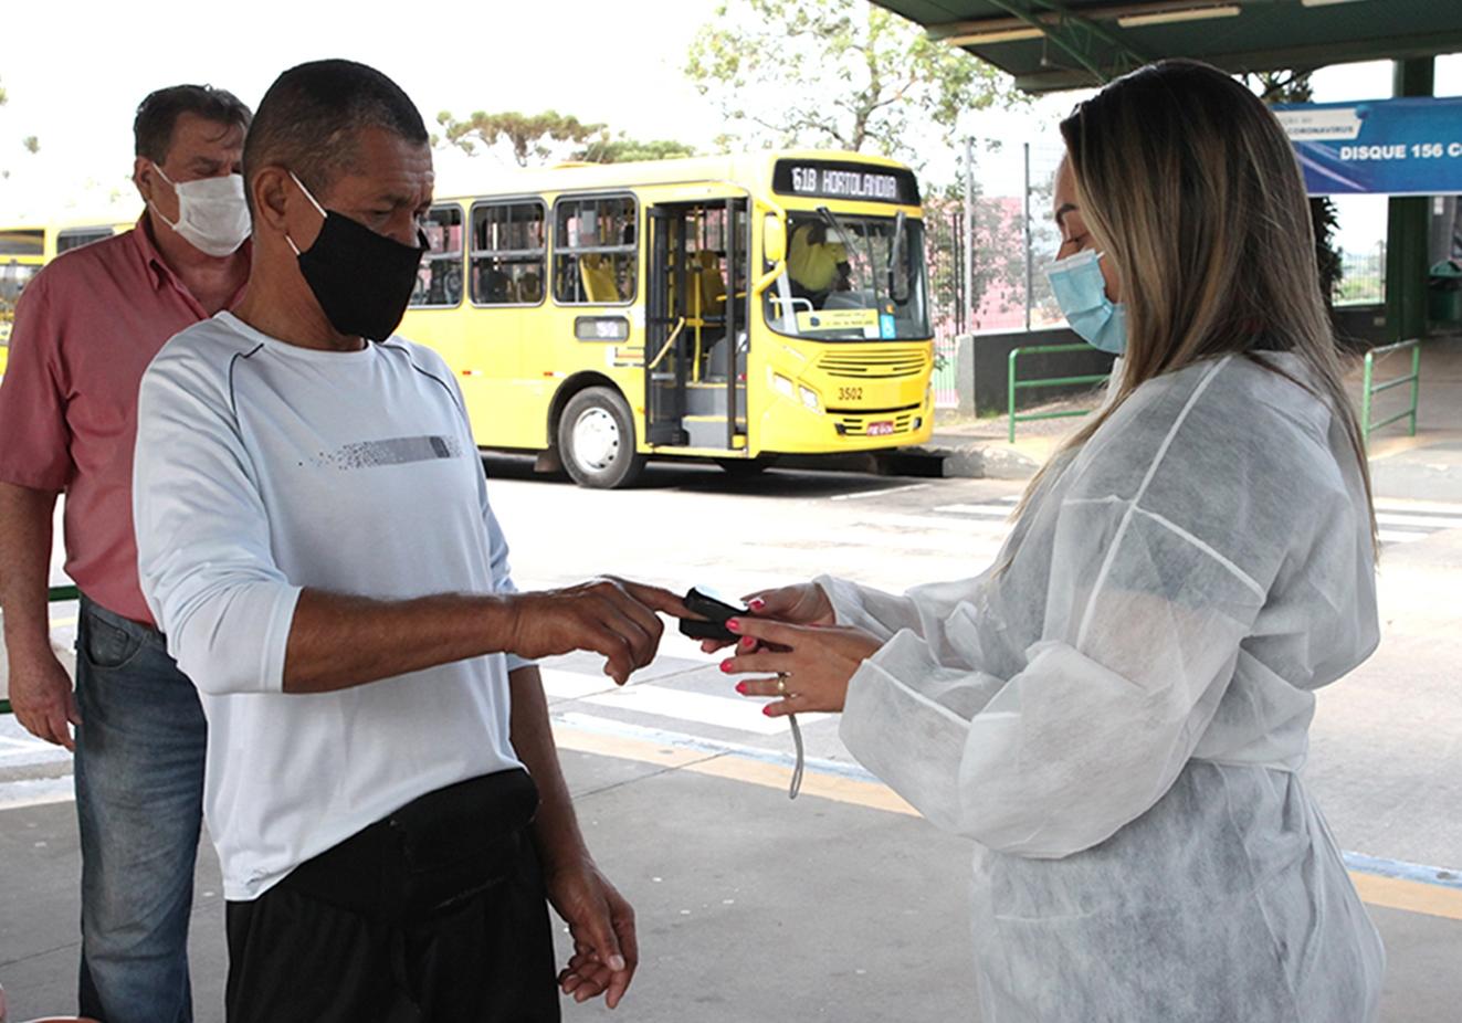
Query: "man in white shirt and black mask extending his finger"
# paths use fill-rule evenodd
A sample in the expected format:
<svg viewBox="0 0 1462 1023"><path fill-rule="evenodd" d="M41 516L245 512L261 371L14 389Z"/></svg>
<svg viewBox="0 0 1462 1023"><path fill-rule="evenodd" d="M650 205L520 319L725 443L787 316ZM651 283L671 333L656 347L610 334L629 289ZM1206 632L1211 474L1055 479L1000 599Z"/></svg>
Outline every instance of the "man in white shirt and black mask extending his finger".
<svg viewBox="0 0 1462 1023"><path fill-rule="evenodd" d="M228 1019L557 1020L614 1007L633 912L585 848L531 658L623 682L674 595L518 593L450 371L392 336L431 151L351 61L285 72L244 151L254 265L139 402L142 589L209 722ZM526 772L525 772L526 769ZM529 777L531 776L531 777Z"/></svg>

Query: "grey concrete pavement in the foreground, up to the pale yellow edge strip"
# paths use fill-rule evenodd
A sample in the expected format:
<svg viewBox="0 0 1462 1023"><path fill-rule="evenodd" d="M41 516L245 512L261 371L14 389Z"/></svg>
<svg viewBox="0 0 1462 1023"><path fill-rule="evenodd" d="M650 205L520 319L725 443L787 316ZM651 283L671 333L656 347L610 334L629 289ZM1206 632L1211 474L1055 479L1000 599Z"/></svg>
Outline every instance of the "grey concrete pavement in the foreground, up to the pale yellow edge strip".
<svg viewBox="0 0 1462 1023"><path fill-rule="evenodd" d="M558 734L588 839L636 906L642 948L617 1014L566 1005L566 1020L980 1019L966 843L842 773L814 767L789 802L787 769L762 758L692 756L564 725ZM67 1008L79 912L72 807L0 811L0 982L13 1019ZM196 884L197 1023L219 1023L227 959L212 849ZM1382 1019L1455 1023L1462 897L1423 900L1425 912L1371 903L1390 960Z"/></svg>

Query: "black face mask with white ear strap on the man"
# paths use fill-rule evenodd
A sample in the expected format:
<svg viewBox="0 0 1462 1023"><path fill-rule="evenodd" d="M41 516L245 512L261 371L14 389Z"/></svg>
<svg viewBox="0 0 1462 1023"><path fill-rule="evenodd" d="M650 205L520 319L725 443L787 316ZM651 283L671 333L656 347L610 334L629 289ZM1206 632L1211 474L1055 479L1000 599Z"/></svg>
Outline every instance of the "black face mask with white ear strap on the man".
<svg viewBox="0 0 1462 1023"><path fill-rule="evenodd" d="M303 253L295 248L304 282L332 327L344 335L385 341L401 324L411 303L427 237L418 231L420 246L404 246L325 209L300 178L294 183L325 216L314 244ZM294 241L289 246L294 247Z"/></svg>

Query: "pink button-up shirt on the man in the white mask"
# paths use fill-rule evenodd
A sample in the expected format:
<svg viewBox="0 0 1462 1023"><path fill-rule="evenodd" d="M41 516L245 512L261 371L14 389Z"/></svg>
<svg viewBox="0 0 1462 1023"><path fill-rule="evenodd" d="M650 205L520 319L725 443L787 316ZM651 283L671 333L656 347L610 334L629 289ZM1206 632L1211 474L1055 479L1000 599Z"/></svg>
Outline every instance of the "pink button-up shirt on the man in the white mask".
<svg viewBox="0 0 1462 1023"><path fill-rule="evenodd" d="M206 319L143 215L26 285L0 383L0 482L64 491L66 573L96 604L148 624L132 532L137 387L158 349Z"/></svg>

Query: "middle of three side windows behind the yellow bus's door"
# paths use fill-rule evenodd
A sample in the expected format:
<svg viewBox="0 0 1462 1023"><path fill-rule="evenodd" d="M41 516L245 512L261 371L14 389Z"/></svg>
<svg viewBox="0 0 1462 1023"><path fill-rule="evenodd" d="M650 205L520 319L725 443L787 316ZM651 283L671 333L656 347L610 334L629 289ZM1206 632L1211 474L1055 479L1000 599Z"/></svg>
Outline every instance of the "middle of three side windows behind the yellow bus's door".
<svg viewBox="0 0 1462 1023"><path fill-rule="evenodd" d="M478 305L537 305L548 275L538 200L472 208L472 301Z"/></svg>

